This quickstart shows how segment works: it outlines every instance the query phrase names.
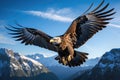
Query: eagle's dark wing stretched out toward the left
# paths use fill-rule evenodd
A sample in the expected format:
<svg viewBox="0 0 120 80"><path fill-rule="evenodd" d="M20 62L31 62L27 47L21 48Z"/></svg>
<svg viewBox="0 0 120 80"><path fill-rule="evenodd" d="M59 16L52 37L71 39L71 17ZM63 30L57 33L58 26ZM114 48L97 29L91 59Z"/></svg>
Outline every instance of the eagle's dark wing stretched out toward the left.
<svg viewBox="0 0 120 80"><path fill-rule="evenodd" d="M21 26L19 24L17 25ZM52 51L57 51L57 47L49 43L52 37L40 30L25 27L18 28L11 25L6 28L11 31L9 34L13 35L16 41L21 41L21 43L25 45L36 45Z"/></svg>

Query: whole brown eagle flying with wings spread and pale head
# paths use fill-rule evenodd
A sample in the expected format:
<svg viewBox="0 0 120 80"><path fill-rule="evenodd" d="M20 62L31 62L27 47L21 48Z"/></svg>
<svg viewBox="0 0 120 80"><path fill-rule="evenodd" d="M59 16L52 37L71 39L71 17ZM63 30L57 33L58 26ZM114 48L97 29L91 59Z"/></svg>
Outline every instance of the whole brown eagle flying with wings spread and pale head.
<svg viewBox="0 0 120 80"><path fill-rule="evenodd" d="M105 28L109 23L108 20L113 19L110 16L115 14L114 8L106 10L109 3L102 7L103 3L104 0L94 10L87 13L92 4L83 15L73 20L68 30L61 36L51 37L40 30L27 27L9 25L11 28L6 28L11 31L13 38L17 38L17 41L25 45L36 45L58 52L55 59L59 63L69 67L79 66L85 62L88 53L74 49L82 46L95 33Z"/></svg>

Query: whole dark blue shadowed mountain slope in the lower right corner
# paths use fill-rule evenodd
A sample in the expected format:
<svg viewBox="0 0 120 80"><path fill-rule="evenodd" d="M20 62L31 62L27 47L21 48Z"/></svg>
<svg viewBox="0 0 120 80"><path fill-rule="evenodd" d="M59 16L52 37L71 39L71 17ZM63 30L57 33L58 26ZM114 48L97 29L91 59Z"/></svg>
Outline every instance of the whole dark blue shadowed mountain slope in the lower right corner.
<svg viewBox="0 0 120 80"><path fill-rule="evenodd" d="M92 70L75 80L120 80L120 49L106 52Z"/></svg>

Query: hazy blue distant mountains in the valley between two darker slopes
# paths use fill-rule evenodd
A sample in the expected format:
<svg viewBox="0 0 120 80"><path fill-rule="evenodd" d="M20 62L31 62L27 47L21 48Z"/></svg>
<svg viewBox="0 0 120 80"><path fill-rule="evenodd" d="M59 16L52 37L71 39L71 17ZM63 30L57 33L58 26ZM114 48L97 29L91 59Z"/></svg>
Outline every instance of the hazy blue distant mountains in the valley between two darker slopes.
<svg viewBox="0 0 120 80"><path fill-rule="evenodd" d="M88 59L83 65L70 68L70 67L63 66L62 64L59 64L56 60L54 60L55 56L44 57L42 54L33 54L33 55L26 55L26 56L41 62L49 70L51 70L54 74L56 74L58 78L62 80L64 79L69 80L69 77L77 73L78 71L84 72L84 70L86 69L91 69L100 60L100 58Z"/></svg>

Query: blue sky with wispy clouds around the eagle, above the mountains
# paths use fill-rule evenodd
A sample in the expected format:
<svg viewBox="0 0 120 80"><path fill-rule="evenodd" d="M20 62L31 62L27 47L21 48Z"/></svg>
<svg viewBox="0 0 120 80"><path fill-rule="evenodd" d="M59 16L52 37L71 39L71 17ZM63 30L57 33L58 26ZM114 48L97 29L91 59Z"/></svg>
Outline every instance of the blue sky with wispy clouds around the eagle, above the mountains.
<svg viewBox="0 0 120 80"><path fill-rule="evenodd" d="M44 31L51 36L63 34L72 20L80 16L91 3L96 7L102 0L0 0L0 48L13 49L23 55L40 53L52 56L57 53L14 41L5 25L15 21L25 27ZM108 27L93 36L78 50L89 53L89 58L100 57L112 48L120 48L120 1L105 0L117 12Z"/></svg>

